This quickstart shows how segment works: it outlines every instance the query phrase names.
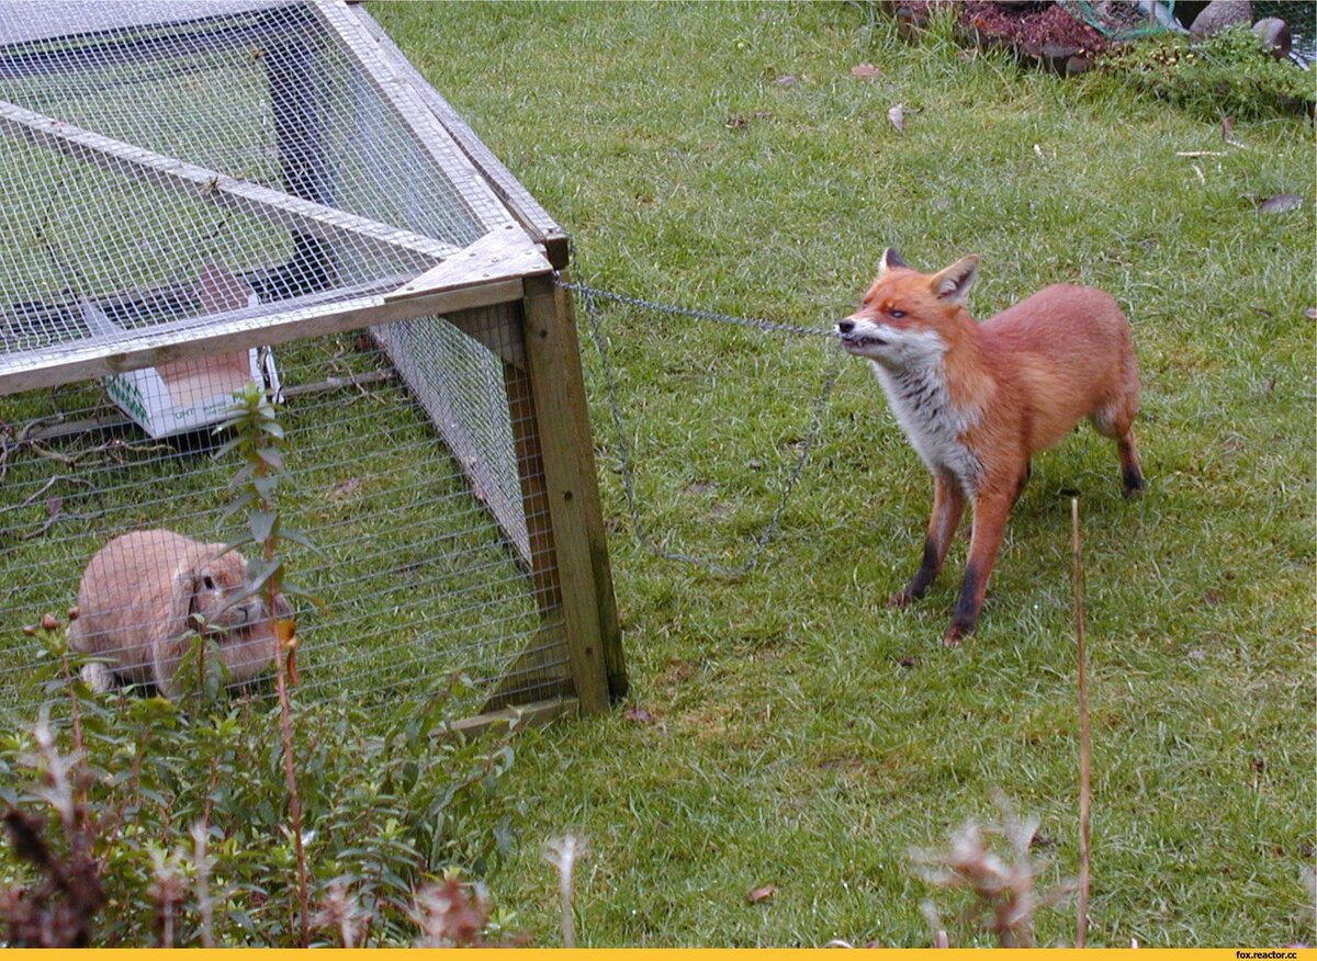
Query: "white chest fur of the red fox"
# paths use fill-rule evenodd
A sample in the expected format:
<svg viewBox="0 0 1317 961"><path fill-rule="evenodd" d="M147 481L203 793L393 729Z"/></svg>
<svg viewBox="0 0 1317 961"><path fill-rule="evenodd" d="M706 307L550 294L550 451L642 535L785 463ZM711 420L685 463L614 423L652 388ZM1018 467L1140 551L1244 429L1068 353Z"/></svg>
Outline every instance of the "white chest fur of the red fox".
<svg viewBox="0 0 1317 961"><path fill-rule="evenodd" d="M951 400L940 357L931 363L890 369L871 361L888 395L888 404L901 429L928 470L951 474L973 496L982 465L961 442L960 434L979 420L977 411L963 411Z"/></svg>

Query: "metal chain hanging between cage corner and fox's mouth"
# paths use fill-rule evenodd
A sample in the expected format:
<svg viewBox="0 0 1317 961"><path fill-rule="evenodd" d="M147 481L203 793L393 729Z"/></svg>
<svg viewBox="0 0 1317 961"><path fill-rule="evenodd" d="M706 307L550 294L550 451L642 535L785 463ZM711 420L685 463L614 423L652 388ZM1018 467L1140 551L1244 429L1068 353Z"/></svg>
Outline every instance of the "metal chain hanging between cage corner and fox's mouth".
<svg viewBox="0 0 1317 961"><path fill-rule="evenodd" d="M581 304L585 308L585 315L590 321L590 336L594 340L595 350L599 351L599 361L603 367L603 380L605 388L607 391L608 408L612 415L612 427L618 434L618 449L622 461L622 488L626 492L627 508L631 513L631 525L636 532L636 538L649 550L649 553L656 557L661 557L666 561L678 561L681 563L689 563L695 567L701 567L710 574L716 577L724 577L730 579L739 579L749 574L759 566L760 559L764 557L764 552L772 542L774 534L777 533L777 527L782 520L782 513L786 511L786 502L792 496L792 491L795 488L795 483L801 479L801 474L805 473L805 465L810 459L810 452L814 449L814 444L823 430L823 409L827 407L828 398L832 395L832 388L836 386L836 379L842 373L842 354L832 358L832 363L823 377L823 386L819 390L818 399L814 403L810 429L801 442L801 453L792 467L790 474L786 477L786 483L782 486L782 495L777 502L777 507L773 509L773 515L769 517L764 529L755 537L755 549L751 556L740 565L735 567L728 567L727 565L719 563L718 561L710 561L709 558L695 557L693 554L686 554L680 550L666 550L651 537L649 531L645 528L644 521L640 517L640 499L636 496L636 482L635 482L635 457L631 449L630 434L626 429L624 417L622 413L622 403L618 400L618 377L612 367L612 361L608 355L607 340L603 336L603 330L599 326L599 305L598 300L612 300L622 304L628 304L631 307L640 307L647 311L657 311L660 313L669 313L681 317L694 317L697 320L711 320L719 324L735 324L738 326L751 326L760 330L773 330L776 333L790 333L797 336L835 336L831 330L824 330L817 326L794 326L792 324L777 324L769 320L751 320L745 317L734 317L726 313L715 313L712 311L697 311L686 307L674 307L670 304L660 304L653 300L644 300L641 298L632 298L624 294L615 294L612 291L599 290L597 287L590 287L585 283L569 283L566 280L557 280L560 287L564 287L574 294L581 295Z"/></svg>

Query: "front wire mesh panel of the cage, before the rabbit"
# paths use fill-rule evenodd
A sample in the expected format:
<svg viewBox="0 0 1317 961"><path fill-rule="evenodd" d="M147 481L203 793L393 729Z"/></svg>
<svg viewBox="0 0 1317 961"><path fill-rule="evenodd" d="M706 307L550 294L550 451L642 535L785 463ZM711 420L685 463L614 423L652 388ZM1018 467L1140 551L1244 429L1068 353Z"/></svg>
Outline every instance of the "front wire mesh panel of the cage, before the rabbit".
<svg viewBox="0 0 1317 961"><path fill-rule="evenodd" d="M516 329L490 317L490 340L502 336L495 325ZM415 325L468 337L437 317ZM412 337L425 342L419 333ZM481 345L474 350L490 357ZM536 575L552 571L553 558L543 553L552 548L537 545L536 554L525 540L508 538L487 495L440 442L431 413L387 357L363 334L344 334L286 345L279 365L288 434L279 507L284 524L320 550L286 542L288 577L325 604L295 603L303 696L391 703L460 673L475 682L474 712L499 683L510 700L561 688L566 649L553 629L556 600ZM437 366L433 373L448 378ZM424 377L410 375L417 383ZM516 462L512 433L531 425L514 423L502 371L497 380L483 379L481 390L486 409L500 411L506 457L499 470L512 471L512 484L543 483L539 462ZM241 462L216 457L220 438L208 430L145 437L91 383L5 398L0 417L0 570L7 574L0 579L0 711L14 714L33 706L37 678L55 666L41 632L26 635L22 627L46 612L63 619L79 603L117 604L79 596L79 583L91 558L122 534L163 529L202 545L236 538L241 517L221 521L221 512ZM523 538L527 524L543 528L545 521L543 506L527 516L520 494L518 516ZM122 570L109 581L169 578L188 566L171 546L162 574L154 559L162 550L157 545L145 550L151 557L121 558ZM188 582L182 602L171 603L182 603L183 615L195 611L202 588ZM119 620L149 636L166 631L176 613L163 604ZM221 650L240 640L240 631L232 633ZM271 669L270 648L265 652L246 669L258 685ZM159 682L149 660L138 657L133 670L130 657L116 663L109 653L120 683Z"/></svg>

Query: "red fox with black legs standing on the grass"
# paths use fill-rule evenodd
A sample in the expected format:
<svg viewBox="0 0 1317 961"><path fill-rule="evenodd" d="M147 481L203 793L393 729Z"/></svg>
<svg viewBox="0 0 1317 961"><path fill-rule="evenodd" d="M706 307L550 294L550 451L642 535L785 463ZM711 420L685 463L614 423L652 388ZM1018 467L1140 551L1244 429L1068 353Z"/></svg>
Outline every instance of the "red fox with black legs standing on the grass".
<svg viewBox="0 0 1317 961"><path fill-rule="evenodd" d="M965 502L973 507L969 561L942 642L975 629L1006 516L1029 480L1030 458L1083 417L1115 440L1125 496L1143 490L1134 445L1139 370L1130 325L1109 295L1059 284L979 324L965 295L979 258L938 274L882 254L860 309L836 325L864 357L911 446L932 473L932 519L923 562L889 607L918 600L938 577Z"/></svg>

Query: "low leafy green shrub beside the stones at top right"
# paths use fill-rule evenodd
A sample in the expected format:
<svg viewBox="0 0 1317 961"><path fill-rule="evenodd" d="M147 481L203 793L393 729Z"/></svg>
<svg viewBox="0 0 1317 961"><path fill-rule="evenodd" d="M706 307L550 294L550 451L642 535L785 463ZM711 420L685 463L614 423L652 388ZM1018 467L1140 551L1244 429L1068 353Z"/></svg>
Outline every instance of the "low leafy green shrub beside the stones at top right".
<svg viewBox="0 0 1317 961"><path fill-rule="evenodd" d="M1122 43L1098 65L1109 76L1202 117L1264 117L1317 101L1317 72L1277 61L1247 26L1195 42L1164 34Z"/></svg>

